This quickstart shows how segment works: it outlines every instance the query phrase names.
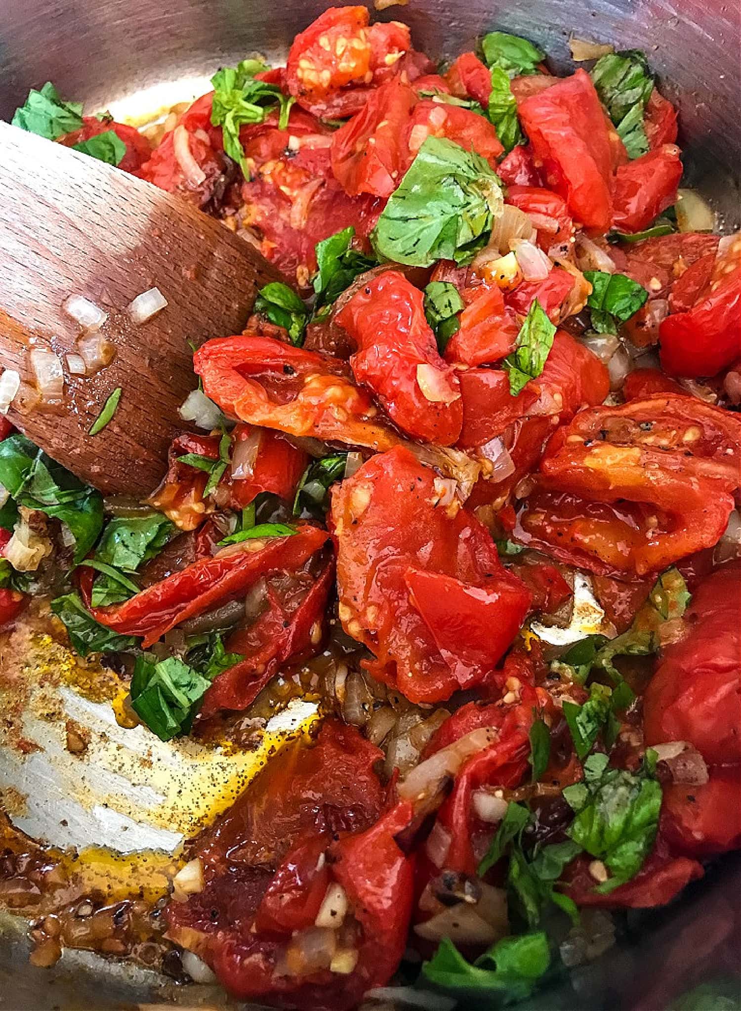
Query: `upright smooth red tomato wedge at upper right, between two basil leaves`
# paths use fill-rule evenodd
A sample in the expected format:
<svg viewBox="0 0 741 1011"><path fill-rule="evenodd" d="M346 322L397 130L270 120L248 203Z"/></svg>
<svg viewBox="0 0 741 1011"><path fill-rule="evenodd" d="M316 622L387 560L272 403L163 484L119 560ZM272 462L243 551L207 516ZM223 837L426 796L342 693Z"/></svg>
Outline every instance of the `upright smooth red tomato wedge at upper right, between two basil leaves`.
<svg viewBox="0 0 741 1011"><path fill-rule="evenodd" d="M575 221L607 232L613 219L613 156L589 75L577 70L526 98L519 111L548 186L565 198Z"/></svg>

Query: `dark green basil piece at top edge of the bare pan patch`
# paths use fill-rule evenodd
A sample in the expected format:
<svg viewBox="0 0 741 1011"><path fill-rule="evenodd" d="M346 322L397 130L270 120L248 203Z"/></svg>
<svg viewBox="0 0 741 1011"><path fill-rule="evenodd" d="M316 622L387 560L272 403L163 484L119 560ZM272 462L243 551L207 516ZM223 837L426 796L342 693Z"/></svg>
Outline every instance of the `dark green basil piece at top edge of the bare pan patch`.
<svg viewBox="0 0 741 1011"><path fill-rule="evenodd" d="M190 730L210 683L177 657L157 661L143 653L131 677L131 708L161 741L169 741Z"/></svg>

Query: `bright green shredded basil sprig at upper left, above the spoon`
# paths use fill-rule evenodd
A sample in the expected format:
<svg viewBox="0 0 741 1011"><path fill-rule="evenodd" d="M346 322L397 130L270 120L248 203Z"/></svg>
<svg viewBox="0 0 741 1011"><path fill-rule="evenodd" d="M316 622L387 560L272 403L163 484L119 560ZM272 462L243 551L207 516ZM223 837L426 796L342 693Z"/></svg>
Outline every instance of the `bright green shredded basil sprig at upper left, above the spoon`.
<svg viewBox="0 0 741 1011"><path fill-rule="evenodd" d="M243 60L237 67L223 67L211 78L213 104L211 122L220 126L223 133L223 150L242 168L246 178L250 178L245 160L245 149L240 141L240 129L248 123L261 123L268 110L280 106L278 126L285 129L294 98L286 98L274 84L257 81L256 74L268 70L260 60Z"/></svg>

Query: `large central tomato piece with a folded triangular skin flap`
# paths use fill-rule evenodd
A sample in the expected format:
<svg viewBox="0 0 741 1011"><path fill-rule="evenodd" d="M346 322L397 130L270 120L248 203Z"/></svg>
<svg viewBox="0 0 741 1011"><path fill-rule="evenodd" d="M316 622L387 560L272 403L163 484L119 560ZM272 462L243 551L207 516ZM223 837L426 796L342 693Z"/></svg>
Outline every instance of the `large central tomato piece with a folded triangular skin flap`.
<svg viewBox="0 0 741 1011"><path fill-rule="evenodd" d="M374 676L413 702L481 681L512 642L530 593L447 482L398 448L333 493L340 617Z"/></svg>

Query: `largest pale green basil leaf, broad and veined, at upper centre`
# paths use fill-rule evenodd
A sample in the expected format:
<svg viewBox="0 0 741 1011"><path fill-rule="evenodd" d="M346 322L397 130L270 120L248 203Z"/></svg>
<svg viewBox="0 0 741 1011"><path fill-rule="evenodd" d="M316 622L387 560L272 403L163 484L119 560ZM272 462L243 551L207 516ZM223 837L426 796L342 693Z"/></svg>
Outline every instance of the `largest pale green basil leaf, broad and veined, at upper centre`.
<svg viewBox="0 0 741 1011"><path fill-rule="evenodd" d="M384 259L416 267L463 263L502 207L501 184L485 159L429 136L378 218L373 248Z"/></svg>

